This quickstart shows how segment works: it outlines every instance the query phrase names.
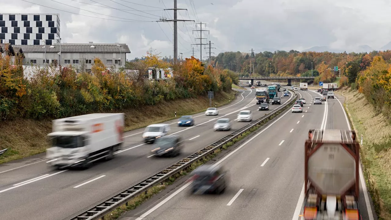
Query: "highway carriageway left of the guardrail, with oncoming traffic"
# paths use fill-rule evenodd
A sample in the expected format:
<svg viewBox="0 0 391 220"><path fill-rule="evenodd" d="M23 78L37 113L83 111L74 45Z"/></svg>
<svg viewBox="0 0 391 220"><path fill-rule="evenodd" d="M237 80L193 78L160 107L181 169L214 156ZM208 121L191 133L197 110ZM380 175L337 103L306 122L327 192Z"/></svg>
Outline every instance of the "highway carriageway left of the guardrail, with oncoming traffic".
<svg viewBox="0 0 391 220"><path fill-rule="evenodd" d="M178 127L176 120L167 122L172 124L171 133L178 133L186 140L183 153L176 158L149 157L152 146L143 144L140 133L143 129L139 129L126 133L126 147L115 159L97 163L88 170L54 170L48 166L44 155L2 164L2 218L19 220L28 216L29 220L68 220L228 135L230 132L213 132L213 122L217 118L234 120L242 109L252 110L254 119L267 113L258 111L254 92L241 92L235 101L219 107L217 116L194 115L195 126ZM288 97L283 97L282 103L286 101ZM270 105L271 109L276 107L278 105ZM244 125L246 122L233 121L232 130Z"/></svg>

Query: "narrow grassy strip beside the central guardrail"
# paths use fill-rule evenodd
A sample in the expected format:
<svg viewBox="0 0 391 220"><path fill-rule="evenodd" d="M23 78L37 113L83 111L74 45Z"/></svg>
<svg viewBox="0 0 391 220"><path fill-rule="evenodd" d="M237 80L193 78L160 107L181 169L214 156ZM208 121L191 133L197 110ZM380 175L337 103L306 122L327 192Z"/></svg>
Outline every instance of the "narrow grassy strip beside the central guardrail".
<svg viewBox="0 0 391 220"><path fill-rule="evenodd" d="M280 110L280 114L282 112L284 112L286 109L287 109L287 107L284 108L283 110ZM106 215L104 219L105 220L115 220L115 219L119 218L124 212L135 209L136 207L138 207L141 204L143 204L143 202L148 201L154 195L156 195L156 194L160 193L161 191L163 191L164 189L166 189L168 186L173 184L176 180L184 177L185 175L187 175L188 173L193 171L195 168L197 168L197 167L201 166L202 164L208 162L209 160L213 159L214 157L219 155L222 151L228 150L231 146L233 146L237 142L241 141L242 139L244 139L245 137L247 137L251 133L253 133L256 130L258 130L259 128L261 128L265 123L267 123L271 119L274 119L275 117L278 117L278 116L279 116L279 114L278 115L273 115L273 116L269 117L267 120L262 121L262 123L258 124L257 126L254 126L253 128L251 128L247 132L242 133L237 138L235 138L232 141L224 144L221 149L215 150L213 153L211 153L210 155L204 157L202 160L199 160L199 161L193 163L186 170L183 170L180 173L178 173L176 175L173 175L172 177L170 177L166 181L162 182L161 184L152 187L150 190L147 191L146 194L139 195L139 196L133 198L132 200L130 200L127 205L125 204L125 205L123 205L121 207L118 207L117 209L115 209L114 211L112 211L111 213ZM102 219L100 219L100 220L102 220Z"/></svg>

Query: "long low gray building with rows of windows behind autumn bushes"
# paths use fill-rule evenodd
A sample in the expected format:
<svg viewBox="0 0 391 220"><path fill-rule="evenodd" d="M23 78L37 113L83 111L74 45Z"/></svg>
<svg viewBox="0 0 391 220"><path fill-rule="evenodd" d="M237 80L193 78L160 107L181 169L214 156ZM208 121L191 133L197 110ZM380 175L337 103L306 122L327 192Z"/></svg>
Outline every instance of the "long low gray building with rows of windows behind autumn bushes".
<svg viewBox="0 0 391 220"><path fill-rule="evenodd" d="M25 56L23 65L43 66L46 57L48 64L73 65L76 69L87 71L91 70L95 58L99 58L107 67L122 67L125 65L126 54L131 52L124 43L55 43L18 47L23 50Z"/></svg>

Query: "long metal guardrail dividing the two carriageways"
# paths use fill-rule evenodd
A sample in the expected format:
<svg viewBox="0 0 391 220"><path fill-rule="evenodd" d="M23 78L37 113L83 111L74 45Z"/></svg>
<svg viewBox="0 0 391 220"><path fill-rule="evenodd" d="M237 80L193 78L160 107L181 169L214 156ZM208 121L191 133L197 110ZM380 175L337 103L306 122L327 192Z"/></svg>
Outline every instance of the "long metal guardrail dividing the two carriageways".
<svg viewBox="0 0 391 220"><path fill-rule="evenodd" d="M298 94L294 90L291 91L294 93L294 95L291 98L291 101L289 101L288 103L285 103L282 106L278 106L278 108L272 110L269 114L252 121L251 123L240 128L239 130L236 130L230 135L223 137L219 141L216 141L215 143L205 147L204 149L197 151L193 155L190 155L189 157L186 157L185 159L182 159L179 162L172 164L168 168L160 171L159 173L152 175L151 177L141 181L135 186L132 186L131 188L126 189L121 193L118 193L114 197L109 198L105 202L99 203L97 206L94 206L91 209L84 211L83 213L75 216L74 218L71 218L70 220L97 220L99 218L104 219L105 215L109 214L111 211L117 209L118 207L127 204L129 200L137 197L138 195L141 195L142 193L147 193L148 189L151 189L152 187L156 186L157 184L160 184L172 175L175 175L180 171L188 168L190 165L213 153L215 150L222 148L224 144L239 137L240 135L242 135L242 133L247 132L251 128L257 126L258 124L269 119L270 117L278 115L283 110L286 110L286 108L292 105L298 97Z"/></svg>

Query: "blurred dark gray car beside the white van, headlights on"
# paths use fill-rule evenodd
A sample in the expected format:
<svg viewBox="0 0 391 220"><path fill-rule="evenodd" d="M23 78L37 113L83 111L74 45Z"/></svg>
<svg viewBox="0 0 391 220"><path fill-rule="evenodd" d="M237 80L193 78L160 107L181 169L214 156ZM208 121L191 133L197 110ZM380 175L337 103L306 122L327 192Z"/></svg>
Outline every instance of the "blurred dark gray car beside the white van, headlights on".
<svg viewBox="0 0 391 220"><path fill-rule="evenodd" d="M182 151L182 138L179 135L167 135L156 139L151 154L155 156L178 156Z"/></svg>

